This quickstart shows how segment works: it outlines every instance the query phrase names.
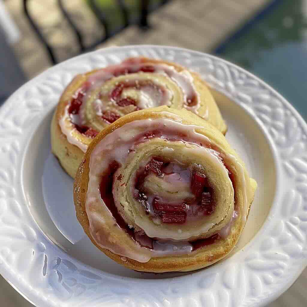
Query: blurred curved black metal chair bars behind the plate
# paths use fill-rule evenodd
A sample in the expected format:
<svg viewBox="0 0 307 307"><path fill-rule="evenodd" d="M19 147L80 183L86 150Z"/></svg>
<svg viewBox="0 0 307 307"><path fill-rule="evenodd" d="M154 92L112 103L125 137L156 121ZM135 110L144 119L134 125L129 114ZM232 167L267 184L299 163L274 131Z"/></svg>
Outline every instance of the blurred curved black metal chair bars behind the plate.
<svg viewBox="0 0 307 307"><path fill-rule="evenodd" d="M117 3L119 5L119 9L121 10L121 13L122 13L123 23L119 28L117 28L115 30L111 30L105 14L99 8L96 1L95 0L88 0L88 4L90 5L92 11L95 13L96 18L98 18L99 23L101 24L101 26L104 29L104 34L98 41L95 41L90 46L86 46L84 44L84 38L82 36L82 33L78 29L76 23L74 22L73 18L69 14L69 12L66 10L63 1L57 0L58 7L62 12L63 17L66 18L66 20L68 21L68 24L70 25L70 27L72 28L73 32L76 35L76 38L77 38L77 41L78 41L78 44L79 44L79 53L86 52L86 51L94 49L97 45L107 41L110 37L112 37L115 34L121 32L123 29L125 29L129 25L138 24L139 27L143 30L149 29L150 26L148 24L148 14L151 11L157 9L158 7L166 4L167 2L169 2L169 0L162 0L162 1L158 2L157 5L150 6L150 0L139 0L140 14L139 14L138 18L133 20L129 16L129 11L128 11L128 8L125 4L125 1L124 0L117 0ZM28 18L30 25L32 26L32 28L36 32L38 38L41 40L41 42L45 46L45 48L46 48L46 50L49 54L50 61L52 62L52 64L56 64L56 63L58 63L58 60L55 56L54 47L52 47L49 44L48 40L43 35L40 27L37 25L37 23L31 17L31 14L29 12L28 4L29 4L29 0L23 0L23 9L24 9L24 12L25 12L25 16Z"/></svg>

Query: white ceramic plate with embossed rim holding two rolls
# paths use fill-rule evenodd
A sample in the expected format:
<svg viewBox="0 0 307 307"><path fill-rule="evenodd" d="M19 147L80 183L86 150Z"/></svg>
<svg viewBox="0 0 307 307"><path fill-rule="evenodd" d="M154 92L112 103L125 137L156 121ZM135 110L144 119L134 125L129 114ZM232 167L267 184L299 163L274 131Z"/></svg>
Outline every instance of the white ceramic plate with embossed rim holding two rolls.
<svg viewBox="0 0 307 307"><path fill-rule="evenodd" d="M258 182L237 247L193 273L148 274L99 252L75 217L72 179L50 153L49 125L77 73L128 56L200 72L227 139ZM264 306L307 265L307 125L272 88L204 53L161 46L101 49L48 69L0 109L0 273L37 306Z"/></svg>

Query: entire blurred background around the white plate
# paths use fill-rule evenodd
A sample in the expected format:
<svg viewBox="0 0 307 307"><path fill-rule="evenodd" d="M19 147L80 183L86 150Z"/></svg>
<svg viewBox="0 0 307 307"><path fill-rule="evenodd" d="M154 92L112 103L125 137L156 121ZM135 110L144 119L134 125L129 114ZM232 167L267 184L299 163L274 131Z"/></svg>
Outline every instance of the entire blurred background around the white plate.
<svg viewBox="0 0 307 307"><path fill-rule="evenodd" d="M0 0L0 104L80 53L156 44L207 52L259 76L307 120L307 0ZM306 307L307 271L269 307ZM0 305L33 306L0 275Z"/></svg>

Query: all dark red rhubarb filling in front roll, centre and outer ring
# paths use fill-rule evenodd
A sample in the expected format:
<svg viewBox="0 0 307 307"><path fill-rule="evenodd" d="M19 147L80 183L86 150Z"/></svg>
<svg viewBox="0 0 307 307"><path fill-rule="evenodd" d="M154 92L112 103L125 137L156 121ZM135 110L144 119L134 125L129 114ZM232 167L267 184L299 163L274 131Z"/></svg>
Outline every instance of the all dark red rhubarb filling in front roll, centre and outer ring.
<svg viewBox="0 0 307 307"><path fill-rule="evenodd" d="M126 231L131 239L139 242L141 246L152 249L153 243L158 242L159 239L151 239L145 233L141 235L139 233L134 233L134 229L128 227L115 206L112 186L115 180L122 181L121 174L115 176L115 172L119 167L120 164L117 161L112 161L107 172L101 177L99 187L100 197L115 218L117 225ZM188 173L190 175L188 175ZM173 179L169 180L167 176L173 176L175 180L185 181L186 184L189 185L190 197L181 202L176 202L176 200L172 199L167 201L159 195L148 195L146 180L150 175L156 176L160 180L165 179L171 183ZM229 172L229 177L234 185L234 176L231 172ZM136 200L141 204L146 213L159 216L161 223L186 223L189 217L210 215L216 208L214 203L214 189L211 187L206 174L203 173L201 169L198 169L197 165L193 165L193 167L185 166L161 157L151 158L150 161L137 172L135 191L134 197L136 197ZM221 237L219 234L214 234L208 238L187 243L192 246L192 251L195 251L216 243L220 239Z"/></svg>

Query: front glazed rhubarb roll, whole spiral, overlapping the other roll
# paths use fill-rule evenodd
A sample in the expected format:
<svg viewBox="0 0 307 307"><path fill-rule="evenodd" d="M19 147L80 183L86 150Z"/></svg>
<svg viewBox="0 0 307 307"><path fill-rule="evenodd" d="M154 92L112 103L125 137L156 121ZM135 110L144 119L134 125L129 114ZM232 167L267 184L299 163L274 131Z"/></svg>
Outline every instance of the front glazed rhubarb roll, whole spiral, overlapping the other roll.
<svg viewBox="0 0 307 307"><path fill-rule="evenodd" d="M133 270L191 271L224 258L256 182L208 121L166 106L125 115L91 142L74 185L77 218Z"/></svg>

